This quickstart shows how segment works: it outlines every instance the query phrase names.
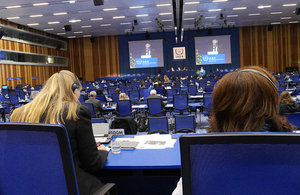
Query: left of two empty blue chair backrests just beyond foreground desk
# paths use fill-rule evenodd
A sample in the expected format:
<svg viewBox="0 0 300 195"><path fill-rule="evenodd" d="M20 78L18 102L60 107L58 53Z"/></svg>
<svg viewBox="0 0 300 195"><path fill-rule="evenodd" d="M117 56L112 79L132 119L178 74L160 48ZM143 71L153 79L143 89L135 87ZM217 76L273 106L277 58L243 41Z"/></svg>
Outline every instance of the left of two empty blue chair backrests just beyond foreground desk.
<svg viewBox="0 0 300 195"><path fill-rule="evenodd" d="M169 133L167 117L148 117L148 133Z"/></svg>

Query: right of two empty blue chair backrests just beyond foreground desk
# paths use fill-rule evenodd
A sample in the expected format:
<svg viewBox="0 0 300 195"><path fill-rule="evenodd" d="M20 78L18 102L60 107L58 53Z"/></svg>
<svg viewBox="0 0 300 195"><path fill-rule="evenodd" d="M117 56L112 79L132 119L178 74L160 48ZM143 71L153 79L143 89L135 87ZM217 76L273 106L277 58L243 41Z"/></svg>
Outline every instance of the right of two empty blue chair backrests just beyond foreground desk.
<svg viewBox="0 0 300 195"><path fill-rule="evenodd" d="M195 132L194 115L177 115L175 116L175 133Z"/></svg>

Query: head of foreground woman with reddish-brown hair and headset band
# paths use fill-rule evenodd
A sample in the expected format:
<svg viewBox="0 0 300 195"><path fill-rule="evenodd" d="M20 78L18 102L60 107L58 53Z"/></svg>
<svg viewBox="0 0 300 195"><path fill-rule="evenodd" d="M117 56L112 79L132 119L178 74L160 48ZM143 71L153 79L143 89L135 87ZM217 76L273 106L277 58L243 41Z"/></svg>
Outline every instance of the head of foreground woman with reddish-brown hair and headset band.
<svg viewBox="0 0 300 195"><path fill-rule="evenodd" d="M213 91L209 132L289 131L292 126L279 116L279 97L271 74L247 67L226 74Z"/></svg>

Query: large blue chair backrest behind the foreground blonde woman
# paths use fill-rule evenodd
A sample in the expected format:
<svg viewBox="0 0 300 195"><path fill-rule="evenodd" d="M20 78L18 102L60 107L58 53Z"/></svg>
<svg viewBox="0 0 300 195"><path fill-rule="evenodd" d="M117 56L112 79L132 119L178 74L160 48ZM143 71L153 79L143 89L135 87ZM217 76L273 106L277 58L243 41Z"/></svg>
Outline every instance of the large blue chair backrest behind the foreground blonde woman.
<svg viewBox="0 0 300 195"><path fill-rule="evenodd" d="M63 125L2 123L0 153L1 195L79 194Z"/></svg>

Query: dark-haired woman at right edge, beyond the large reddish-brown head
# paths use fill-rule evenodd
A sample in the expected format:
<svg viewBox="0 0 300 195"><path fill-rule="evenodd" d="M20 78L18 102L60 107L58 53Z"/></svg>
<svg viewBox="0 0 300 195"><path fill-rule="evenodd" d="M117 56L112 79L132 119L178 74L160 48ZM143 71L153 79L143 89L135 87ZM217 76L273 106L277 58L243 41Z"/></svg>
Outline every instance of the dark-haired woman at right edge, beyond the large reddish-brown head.
<svg viewBox="0 0 300 195"><path fill-rule="evenodd" d="M292 112L300 112L300 105L295 102L288 91L283 91L280 96L279 114L289 114Z"/></svg>

